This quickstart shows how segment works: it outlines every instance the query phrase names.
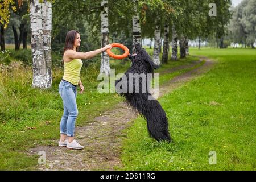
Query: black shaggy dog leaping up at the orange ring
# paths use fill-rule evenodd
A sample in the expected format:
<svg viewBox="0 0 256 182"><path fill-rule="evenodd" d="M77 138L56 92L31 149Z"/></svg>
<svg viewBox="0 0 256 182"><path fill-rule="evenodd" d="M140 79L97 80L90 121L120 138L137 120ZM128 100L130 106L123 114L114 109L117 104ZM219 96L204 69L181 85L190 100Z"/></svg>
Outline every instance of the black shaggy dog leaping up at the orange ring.
<svg viewBox="0 0 256 182"><path fill-rule="evenodd" d="M121 94L127 104L147 120L147 130L151 137L158 141L167 140L171 142L166 113L157 100L148 99L150 96L152 97L148 88L150 82L148 83L142 77L138 77L138 75L145 75L148 78L150 76L148 73L151 73L153 77L154 69L158 67L139 44L135 45L134 53L137 55L129 55L132 62L131 67L120 80L115 81L115 91ZM129 77L131 75L134 75L134 77ZM143 91L143 86L146 88L146 92L145 89Z"/></svg>

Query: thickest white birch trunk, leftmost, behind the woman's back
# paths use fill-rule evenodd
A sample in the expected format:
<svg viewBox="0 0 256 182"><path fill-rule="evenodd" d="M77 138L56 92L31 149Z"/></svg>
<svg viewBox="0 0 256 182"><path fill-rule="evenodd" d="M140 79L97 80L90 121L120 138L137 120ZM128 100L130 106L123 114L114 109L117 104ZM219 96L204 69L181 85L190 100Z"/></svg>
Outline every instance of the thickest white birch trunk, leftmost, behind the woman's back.
<svg viewBox="0 0 256 182"><path fill-rule="evenodd" d="M49 13L45 13L45 10L49 11ZM51 35L47 35L51 30L44 31L45 27L51 28L51 23L49 23L51 17L48 17L49 14L51 14L51 3L39 3L39 0L30 1L31 52L33 61L32 87L34 88L47 89L52 86L51 53L49 53L49 51L51 52ZM44 48L44 38L49 39L46 48ZM44 49L47 52L47 61Z"/></svg>

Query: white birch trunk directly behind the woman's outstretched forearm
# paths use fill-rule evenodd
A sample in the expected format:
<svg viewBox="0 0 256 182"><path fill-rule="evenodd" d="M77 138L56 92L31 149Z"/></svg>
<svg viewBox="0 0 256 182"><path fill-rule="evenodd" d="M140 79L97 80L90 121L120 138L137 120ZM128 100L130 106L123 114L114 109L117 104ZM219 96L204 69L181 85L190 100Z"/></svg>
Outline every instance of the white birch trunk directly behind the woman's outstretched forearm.
<svg viewBox="0 0 256 182"><path fill-rule="evenodd" d="M108 0L101 1L101 47L109 44L109 17L108 17ZM110 75L109 55L106 51L101 53L100 73Z"/></svg>

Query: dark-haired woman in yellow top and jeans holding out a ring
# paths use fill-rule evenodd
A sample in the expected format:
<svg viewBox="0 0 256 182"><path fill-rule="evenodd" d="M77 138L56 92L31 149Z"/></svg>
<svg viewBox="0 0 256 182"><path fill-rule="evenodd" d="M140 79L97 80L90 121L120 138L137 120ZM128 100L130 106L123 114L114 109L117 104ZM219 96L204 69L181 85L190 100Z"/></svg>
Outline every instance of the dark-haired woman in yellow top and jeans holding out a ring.
<svg viewBox="0 0 256 182"><path fill-rule="evenodd" d="M59 93L64 105L64 114L60 122L59 146L72 149L84 148L74 139L75 123L78 114L76 105L77 85L81 89L79 93L84 91L84 86L79 76L82 67L81 59L90 59L102 51L112 48L110 45L106 45L104 48L95 51L78 52L80 42L79 31L71 30L67 33L63 51L64 76L59 84Z"/></svg>

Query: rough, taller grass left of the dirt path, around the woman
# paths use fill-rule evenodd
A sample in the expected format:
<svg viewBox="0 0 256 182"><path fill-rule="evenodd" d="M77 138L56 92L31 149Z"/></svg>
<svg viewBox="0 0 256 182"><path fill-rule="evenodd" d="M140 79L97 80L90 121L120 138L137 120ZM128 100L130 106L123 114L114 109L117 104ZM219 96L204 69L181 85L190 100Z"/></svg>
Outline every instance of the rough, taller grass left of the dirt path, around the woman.
<svg viewBox="0 0 256 182"><path fill-rule="evenodd" d="M152 49L147 51L152 53ZM189 64L195 60L197 60L195 57L188 57L185 60L170 61L158 72ZM95 61L98 61L97 58ZM111 60L110 65L115 69L115 73L120 73L129 68L130 62L120 64L119 60ZM86 125L90 119L121 101L121 97L117 94L97 92L99 67L100 64L96 63L81 70L85 92L77 96L79 109L77 126ZM39 145L56 145L56 140L59 138L63 103L58 93L58 85L63 76L63 68L53 68L53 86L49 90L31 88L31 65L25 66L14 61L9 65L1 65L0 69L0 170L35 169L38 156L28 156L26 154L28 149ZM160 77L160 84L167 78L185 71L188 69L163 75Z"/></svg>

